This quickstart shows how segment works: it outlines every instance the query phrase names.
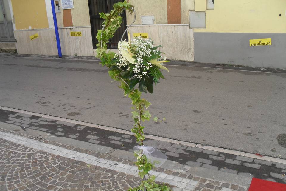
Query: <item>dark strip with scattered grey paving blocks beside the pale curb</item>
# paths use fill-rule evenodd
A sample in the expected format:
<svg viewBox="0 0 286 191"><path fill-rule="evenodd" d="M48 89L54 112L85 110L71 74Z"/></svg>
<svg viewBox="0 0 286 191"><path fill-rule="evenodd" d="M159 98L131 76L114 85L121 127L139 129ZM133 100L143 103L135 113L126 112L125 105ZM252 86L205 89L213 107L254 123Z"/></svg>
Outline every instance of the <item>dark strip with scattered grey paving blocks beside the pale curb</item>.
<svg viewBox="0 0 286 191"><path fill-rule="evenodd" d="M39 130L113 149L133 152L133 146L136 145L136 140L131 135L7 110L0 110L0 121L22 129ZM286 164L240 156L240 152L237 152L238 155L228 154L151 139L146 139L145 145L158 148L168 156L168 160L180 164L286 183Z"/></svg>

